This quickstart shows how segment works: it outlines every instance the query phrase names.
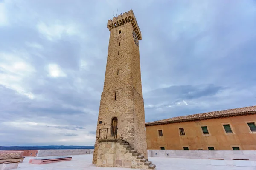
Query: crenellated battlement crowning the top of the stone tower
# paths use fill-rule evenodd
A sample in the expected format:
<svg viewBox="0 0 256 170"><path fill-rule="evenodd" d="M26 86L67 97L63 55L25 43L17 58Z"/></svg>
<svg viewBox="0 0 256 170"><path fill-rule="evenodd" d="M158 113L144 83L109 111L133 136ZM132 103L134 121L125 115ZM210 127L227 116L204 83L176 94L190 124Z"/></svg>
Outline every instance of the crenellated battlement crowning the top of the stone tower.
<svg viewBox="0 0 256 170"><path fill-rule="evenodd" d="M138 23L136 21L135 15L132 10L123 13L122 15L118 15L117 17L113 17L113 20L108 20L108 29L111 31L111 29L116 28L118 26L121 26L123 24L131 22L134 31L138 37L139 40L141 40L141 31L140 27L138 26Z"/></svg>

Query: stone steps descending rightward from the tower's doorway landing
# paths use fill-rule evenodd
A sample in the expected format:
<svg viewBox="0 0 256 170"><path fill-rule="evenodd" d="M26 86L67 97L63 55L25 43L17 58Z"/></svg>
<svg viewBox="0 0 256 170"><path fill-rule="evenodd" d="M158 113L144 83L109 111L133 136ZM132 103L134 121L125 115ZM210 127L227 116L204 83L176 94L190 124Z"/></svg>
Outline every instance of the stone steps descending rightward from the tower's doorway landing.
<svg viewBox="0 0 256 170"><path fill-rule="evenodd" d="M134 156L134 159L137 162L135 167L136 169L155 170L156 165L144 158L144 156L138 153L137 150L134 150L134 147L132 147L128 142L125 140L119 140L118 142L120 145L123 145L126 154L131 154L131 156Z"/></svg>

